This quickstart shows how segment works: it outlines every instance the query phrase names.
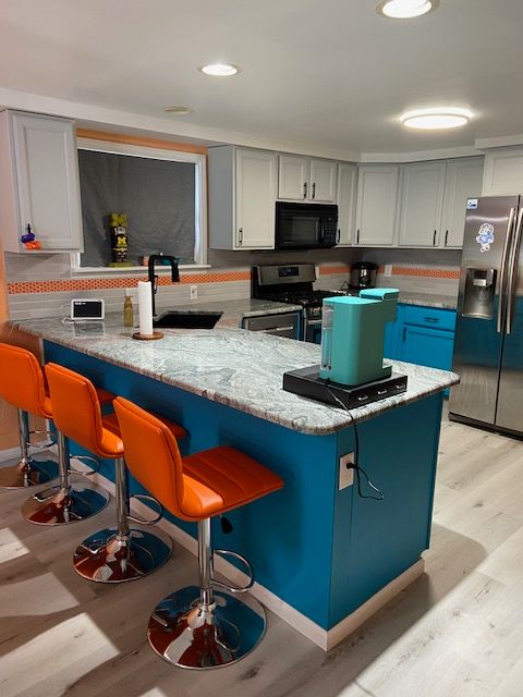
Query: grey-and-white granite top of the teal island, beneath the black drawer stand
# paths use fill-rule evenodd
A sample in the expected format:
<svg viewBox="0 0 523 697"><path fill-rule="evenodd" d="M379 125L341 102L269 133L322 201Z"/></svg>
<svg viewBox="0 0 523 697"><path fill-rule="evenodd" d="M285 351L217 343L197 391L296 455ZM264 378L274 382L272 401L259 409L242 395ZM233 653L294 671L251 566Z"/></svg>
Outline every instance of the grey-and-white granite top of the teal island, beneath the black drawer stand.
<svg viewBox="0 0 523 697"><path fill-rule="evenodd" d="M120 313L106 317L104 333L101 322L73 326L47 318L11 323L35 337L315 436L333 433L352 421L416 402L459 381L453 372L393 362L397 372L409 376L408 391L348 414L282 390L283 372L319 364L316 344L229 328L167 329L160 341L134 341L133 330L122 327Z"/></svg>

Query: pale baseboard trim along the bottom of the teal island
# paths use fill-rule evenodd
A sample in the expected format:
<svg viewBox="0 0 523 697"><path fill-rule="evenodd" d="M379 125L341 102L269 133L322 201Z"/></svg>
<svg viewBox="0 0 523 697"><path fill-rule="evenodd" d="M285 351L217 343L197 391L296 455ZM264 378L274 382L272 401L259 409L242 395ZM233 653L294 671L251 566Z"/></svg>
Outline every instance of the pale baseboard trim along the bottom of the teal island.
<svg viewBox="0 0 523 697"><path fill-rule="evenodd" d="M74 462L75 467L78 469L85 467L81 461L75 460ZM111 496L114 496L114 484L102 475L95 474L89 477L89 479L99 484L104 489L111 493ZM151 509L137 499L132 500L132 510L138 515L150 517ZM195 557L197 555L197 541L191 535L166 518L162 518L157 525L160 529L170 535L181 547L190 551ZM387 584L387 586L381 588L381 590L364 602L363 606L357 608L357 610L328 631L320 627L318 624L306 617L258 583L254 584L251 594L268 610L296 629L296 632L300 632L300 634L303 634L305 637L311 639L311 641L319 646L324 651L329 651L372 617L394 596L404 590L413 580L421 576L424 568L425 560L419 559L415 564L405 570L397 578L393 578L389 584ZM224 576L231 584L243 585L247 580L247 576L245 574L239 571L233 564L218 555L215 559L215 570Z"/></svg>

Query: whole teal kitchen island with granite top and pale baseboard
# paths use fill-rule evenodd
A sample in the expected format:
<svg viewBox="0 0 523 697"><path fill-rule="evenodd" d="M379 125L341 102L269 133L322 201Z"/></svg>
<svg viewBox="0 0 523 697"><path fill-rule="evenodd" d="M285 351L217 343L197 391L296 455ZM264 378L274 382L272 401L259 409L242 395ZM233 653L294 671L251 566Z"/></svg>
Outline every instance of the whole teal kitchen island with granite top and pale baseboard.
<svg viewBox="0 0 523 697"><path fill-rule="evenodd" d="M423 573L443 390L458 376L396 362L408 391L348 413L282 390L283 372L319 363L315 344L227 328L134 341L120 319L14 326L42 340L46 362L183 425L182 454L232 445L283 478L281 491L228 514L232 533L212 530L216 548L252 562L253 595L266 607L329 649ZM375 492L365 477L351 484L355 429L360 465L382 500L367 498ZM99 480L113 479L104 462ZM195 551L195 526L163 525ZM217 568L241 577L226 562Z"/></svg>

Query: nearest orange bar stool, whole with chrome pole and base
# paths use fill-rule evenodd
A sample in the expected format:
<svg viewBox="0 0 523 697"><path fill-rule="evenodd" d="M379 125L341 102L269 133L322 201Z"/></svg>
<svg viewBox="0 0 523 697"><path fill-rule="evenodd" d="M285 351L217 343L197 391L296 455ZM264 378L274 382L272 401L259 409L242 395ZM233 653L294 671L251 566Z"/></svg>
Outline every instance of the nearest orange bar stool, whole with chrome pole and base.
<svg viewBox="0 0 523 697"><path fill-rule="evenodd" d="M254 583L245 558L216 550L246 565L251 576L246 586L231 587L214 578L210 519L281 489L283 481L229 447L182 460L172 433L154 415L123 398L114 400L114 411L133 475L173 515L198 523L199 587L177 590L156 607L149 619L149 644L158 656L182 668L234 663L264 636L265 613L254 598L243 601L234 596Z"/></svg>

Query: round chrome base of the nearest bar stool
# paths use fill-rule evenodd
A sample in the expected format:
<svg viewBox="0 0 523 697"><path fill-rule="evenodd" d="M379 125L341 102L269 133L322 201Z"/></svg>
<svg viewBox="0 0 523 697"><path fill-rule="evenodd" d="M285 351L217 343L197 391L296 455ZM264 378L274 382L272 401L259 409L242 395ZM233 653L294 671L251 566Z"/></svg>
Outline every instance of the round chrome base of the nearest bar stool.
<svg viewBox="0 0 523 697"><path fill-rule="evenodd" d="M265 612L253 597L240 600L214 590L210 606L188 586L165 598L149 619L147 637L158 656L181 668L230 665L250 653L265 634Z"/></svg>

